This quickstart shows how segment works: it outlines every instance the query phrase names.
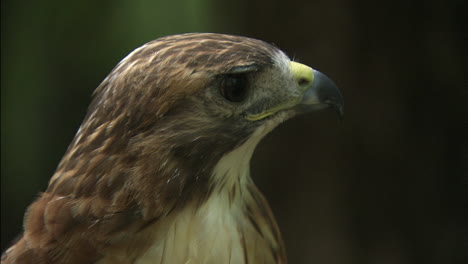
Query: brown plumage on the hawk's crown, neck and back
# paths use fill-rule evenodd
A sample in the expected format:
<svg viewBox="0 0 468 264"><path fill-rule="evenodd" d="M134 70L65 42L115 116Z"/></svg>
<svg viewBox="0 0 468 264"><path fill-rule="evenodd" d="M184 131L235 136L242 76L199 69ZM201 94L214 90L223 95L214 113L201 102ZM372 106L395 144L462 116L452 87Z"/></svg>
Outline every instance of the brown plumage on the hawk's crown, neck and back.
<svg viewBox="0 0 468 264"><path fill-rule="evenodd" d="M213 167L252 132L234 128L229 116L210 121L215 110L209 103L187 106L202 100L217 75L270 65L277 52L244 37L185 34L150 42L123 59L96 89L49 187L27 210L24 236L2 263L135 261L157 236L148 230L161 219L189 201L206 201ZM234 186L229 199L239 191ZM253 185L249 193L252 230L243 232L271 240L276 263L285 263L268 204ZM255 247L243 239L244 250Z"/></svg>

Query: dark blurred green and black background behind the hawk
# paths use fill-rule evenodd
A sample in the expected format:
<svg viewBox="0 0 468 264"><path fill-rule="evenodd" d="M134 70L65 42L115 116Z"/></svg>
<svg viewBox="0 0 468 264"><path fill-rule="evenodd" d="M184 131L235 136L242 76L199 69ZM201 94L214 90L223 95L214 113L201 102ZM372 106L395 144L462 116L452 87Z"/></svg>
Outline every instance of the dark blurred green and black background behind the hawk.
<svg viewBox="0 0 468 264"><path fill-rule="evenodd" d="M344 122L288 121L252 161L291 263L468 263L467 3L2 0L2 251L120 59L222 32L274 43L345 97Z"/></svg>

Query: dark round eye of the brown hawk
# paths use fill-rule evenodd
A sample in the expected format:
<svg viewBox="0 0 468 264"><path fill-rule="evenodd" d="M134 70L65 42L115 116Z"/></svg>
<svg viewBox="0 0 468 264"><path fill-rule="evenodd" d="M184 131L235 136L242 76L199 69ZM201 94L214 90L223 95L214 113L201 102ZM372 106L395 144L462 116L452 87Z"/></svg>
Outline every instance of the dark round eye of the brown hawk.
<svg viewBox="0 0 468 264"><path fill-rule="evenodd" d="M241 102L247 94L245 74L228 74L223 76L220 87L221 95L230 102Z"/></svg>

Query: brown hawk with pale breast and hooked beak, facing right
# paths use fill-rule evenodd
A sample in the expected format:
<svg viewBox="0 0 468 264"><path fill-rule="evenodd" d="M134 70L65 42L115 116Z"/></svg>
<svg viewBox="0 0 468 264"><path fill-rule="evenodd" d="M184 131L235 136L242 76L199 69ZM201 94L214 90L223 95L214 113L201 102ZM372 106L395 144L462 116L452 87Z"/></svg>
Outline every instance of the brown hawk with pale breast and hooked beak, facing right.
<svg viewBox="0 0 468 264"><path fill-rule="evenodd" d="M286 263L249 162L278 124L329 107L333 82L263 41L149 42L94 92L2 263Z"/></svg>

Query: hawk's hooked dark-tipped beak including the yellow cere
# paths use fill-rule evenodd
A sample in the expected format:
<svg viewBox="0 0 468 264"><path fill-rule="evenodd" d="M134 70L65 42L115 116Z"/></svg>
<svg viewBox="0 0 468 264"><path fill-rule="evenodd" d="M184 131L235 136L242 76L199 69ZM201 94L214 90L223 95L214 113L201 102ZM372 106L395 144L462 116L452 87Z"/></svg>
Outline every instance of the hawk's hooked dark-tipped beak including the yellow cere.
<svg viewBox="0 0 468 264"><path fill-rule="evenodd" d="M330 78L297 62L291 62L290 67L296 83L303 91L302 101L296 106L300 112L333 108L339 118L343 118L343 96Z"/></svg>

